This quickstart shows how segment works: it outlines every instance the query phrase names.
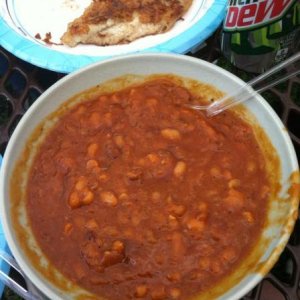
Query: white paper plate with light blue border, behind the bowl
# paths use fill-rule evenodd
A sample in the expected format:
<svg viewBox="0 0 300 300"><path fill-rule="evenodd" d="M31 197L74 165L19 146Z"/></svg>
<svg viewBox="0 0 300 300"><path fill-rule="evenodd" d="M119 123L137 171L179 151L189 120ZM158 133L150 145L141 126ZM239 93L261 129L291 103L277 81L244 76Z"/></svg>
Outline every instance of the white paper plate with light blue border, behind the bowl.
<svg viewBox="0 0 300 300"><path fill-rule="evenodd" d="M186 15L168 32L116 46L60 43L67 24L91 0L0 0L0 44L39 67L69 73L95 61L136 52L186 53L203 43L222 22L227 0L194 0ZM51 42L43 39L51 33ZM41 38L36 38L37 34Z"/></svg>

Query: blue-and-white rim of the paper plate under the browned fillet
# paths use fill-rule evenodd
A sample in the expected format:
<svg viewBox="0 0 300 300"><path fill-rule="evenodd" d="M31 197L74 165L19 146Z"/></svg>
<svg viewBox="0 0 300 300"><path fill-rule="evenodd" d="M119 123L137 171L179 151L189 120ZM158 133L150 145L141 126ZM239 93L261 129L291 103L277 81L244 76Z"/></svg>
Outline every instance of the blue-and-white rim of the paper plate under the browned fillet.
<svg viewBox="0 0 300 300"><path fill-rule="evenodd" d="M136 49L120 45L120 51L110 52L108 51L110 46L98 46L97 51L94 51L92 55L90 53L87 55L86 45L80 45L83 49L81 52L73 51L73 48L63 45L47 45L41 40L37 40L34 34L28 33L26 28L22 27L22 21L19 20L21 18L15 16L18 13L14 11L17 10L15 7L18 1L0 0L0 12L2 9L0 17L0 44L15 56L29 63L62 73L69 73L93 62L127 53L172 52L183 54L193 50L211 36L225 16L227 0L203 0L201 5L198 4L200 2L197 2L199 0L194 1L193 5L197 6L196 9L199 11L199 15L201 14L201 17L197 18L198 11L196 11L195 16L191 19L191 25L184 27L184 30L179 31L178 35L176 34L166 39L164 34L162 34L161 42L156 39L154 46L151 46L151 43L147 43L148 40L145 37L143 41L145 41L144 45L147 45L146 48L141 47L141 43ZM207 5L208 2L210 3L209 5ZM19 10L21 9L19 8ZM29 12L33 13L32 10L29 10ZM99 52L103 55L98 55Z"/></svg>

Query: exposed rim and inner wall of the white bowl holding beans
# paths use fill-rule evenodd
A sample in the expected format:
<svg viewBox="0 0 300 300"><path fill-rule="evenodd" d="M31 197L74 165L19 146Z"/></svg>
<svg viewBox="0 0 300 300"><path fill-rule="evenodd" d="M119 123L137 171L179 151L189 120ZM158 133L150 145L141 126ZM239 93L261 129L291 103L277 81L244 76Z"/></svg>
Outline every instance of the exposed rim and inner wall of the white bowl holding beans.
<svg viewBox="0 0 300 300"><path fill-rule="evenodd" d="M88 66L72 73L54 84L30 107L15 129L7 146L1 169L0 198L1 220L8 245L28 278L50 299L71 299L79 288L70 285L72 291L54 286L44 274L31 263L20 246L12 226L9 182L28 137L33 130L74 94L99 83L125 74L150 75L172 73L214 85L225 93L243 85L243 81L231 73L202 60L183 55L140 54L118 57ZM263 230L255 255L251 254L236 275L216 287L209 299L239 299L251 290L272 268L284 249L292 232L298 211L299 167L291 140L280 119L259 95L245 103L254 115L255 126L259 125L276 149L280 160L280 189L271 201L267 225ZM27 228L25 228L27 230ZM24 231L25 232L25 231ZM238 275L240 274L240 275Z"/></svg>

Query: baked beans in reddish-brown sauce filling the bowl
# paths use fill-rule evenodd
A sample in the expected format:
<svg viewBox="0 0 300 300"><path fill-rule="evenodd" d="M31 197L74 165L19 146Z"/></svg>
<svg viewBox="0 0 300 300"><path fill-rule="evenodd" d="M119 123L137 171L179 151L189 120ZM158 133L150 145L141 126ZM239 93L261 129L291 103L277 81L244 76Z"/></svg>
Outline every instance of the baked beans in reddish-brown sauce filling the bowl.
<svg viewBox="0 0 300 300"><path fill-rule="evenodd" d="M108 299L187 299L231 273L265 222L251 126L156 79L77 104L34 159L27 211L67 278Z"/></svg>

